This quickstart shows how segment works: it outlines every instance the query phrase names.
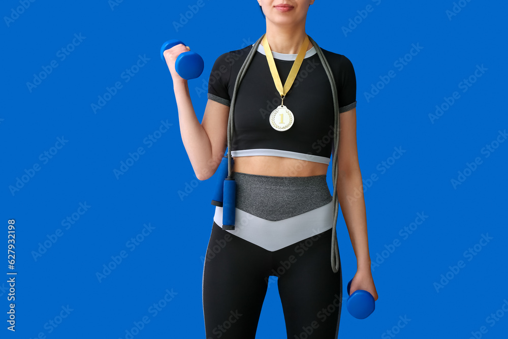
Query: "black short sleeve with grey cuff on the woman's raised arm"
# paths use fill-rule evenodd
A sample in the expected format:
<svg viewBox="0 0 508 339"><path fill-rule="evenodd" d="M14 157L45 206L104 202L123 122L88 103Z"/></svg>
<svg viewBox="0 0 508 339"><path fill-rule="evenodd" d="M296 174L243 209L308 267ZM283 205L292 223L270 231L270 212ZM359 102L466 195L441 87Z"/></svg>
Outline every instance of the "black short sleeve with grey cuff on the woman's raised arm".
<svg viewBox="0 0 508 339"><path fill-rule="evenodd" d="M208 79L208 99L220 104L231 106L229 96L229 79L231 75L231 65L228 63L228 53L220 55L213 64Z"/></svg>

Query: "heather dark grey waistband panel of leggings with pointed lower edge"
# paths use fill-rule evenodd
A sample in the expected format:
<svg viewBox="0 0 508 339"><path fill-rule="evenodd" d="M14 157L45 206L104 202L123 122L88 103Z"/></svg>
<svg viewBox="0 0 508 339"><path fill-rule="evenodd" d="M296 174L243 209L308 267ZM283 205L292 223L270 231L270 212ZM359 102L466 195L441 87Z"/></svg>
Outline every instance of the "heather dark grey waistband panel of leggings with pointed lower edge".
<svg viewBox="0 0 508 339"><path fill-rule="evenodd" d="M233 172L236 207L271 221L308 212L332 201L326 174L270 176Z"/></svg>

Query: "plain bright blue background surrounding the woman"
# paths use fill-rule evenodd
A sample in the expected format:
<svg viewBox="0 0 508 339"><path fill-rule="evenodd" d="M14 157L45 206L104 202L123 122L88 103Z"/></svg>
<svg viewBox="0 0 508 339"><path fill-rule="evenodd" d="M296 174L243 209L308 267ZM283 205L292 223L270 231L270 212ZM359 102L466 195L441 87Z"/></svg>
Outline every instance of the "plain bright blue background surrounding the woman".
<svg viewBox="0 0 508 339"><path fill-rule="evenodd" d="M19 7L21 3L28 7ZM125 338L145 316L150 322L135 338L205 336L202 257L211 232L216 177L199 181L194 175L181 141L171 75L159 49L177 38L203 56L203 74L188 82L201 121L213 61L256 42L265 33L265 19L255 1L205 0L202 7L194 0L110 3L8 0L0 6L2 337ZM376 311L358 320L344 303L340 338L388 338L393 333L397 338L469 338L471 332L507 337L508 314L502 306L508 310L508 142L497 141L504 141L500 132L508 128L508 5L460 4L465 7L456 7L461 10L451 17L452 1L318 0L310 7L307 34L322 48L346 55L355 67L369 248L378 264L373 265ZM371 12L362 12L367 5ZM188 12L189 6L198 11ZM187 22L175 28L173 22L185 14ZM344 33L342 27L348 25L352 29ZM62 59L58 51L73 39L73 51ZM413 56L406 55L411 44L422 47ZM140 56L145 63L126 81L122 73ZM410 61L400 69L394 63L404 56ZM57 67L29 88L27 82L33 83L34 74L48 69L52 60ZM478 78L477 65L487 69ZM395 77L378 84L383 88L367 100L365 93L390 70ZM460 83L469 77L474 82L463 91ZM94 112L91 104L117 81L122 87ZM431 119L436 105L446 103L454 91L460 98ZM156 142L145 143L161 121L172 125ZM68 141L52 148L57 138ZM485 151L487 145L492 152ZM114 169L138 147L144 154L115 176ZM395 147L405 152L392 162ZM56 153L45 159L40 157L45 151ZM458 172L477 157L481 164L466 170L469 175L454 187L451 180L458 180ZM40 170L31 172L35 164ZM374 173L378 179L367 182ZM25 174L22 187L11 191ZM331 167L332 190L330 178ZM71 225L66 229L62 221L83 212L80 203L90 207L74 214L79 219L65 224ZM428 217L404 235L400 230L411 227L417 213ZM9 219L16 220L15 333L7 330ZM133 245L130 239L145 224L151 231ZM480 241L482 234L492 239ZM55 237L56 242L49 240ZM341 213L337 237L346 297L356 259ZM394 240L400 245L391 247ZM49 248L40 248L45 241ZM469 249L474 256L466 253ZM121 251L127 256L115 267L112 256ZM459 260L464 265L453 273L450 266ZM97 272L108 264L114 269L99 279ZM446 285L436 288L435 283ZM173 299L154 314L150 307L167 290ZM60 321L62 307L72 311L63 311L67 317L50 326L50 320ZM488 318L496 312L497 321ZM410 320L399 322L404 317ZM482 326L487 330L483 334ZM286 337L276 284L268 289L257 337Z"/></svg>

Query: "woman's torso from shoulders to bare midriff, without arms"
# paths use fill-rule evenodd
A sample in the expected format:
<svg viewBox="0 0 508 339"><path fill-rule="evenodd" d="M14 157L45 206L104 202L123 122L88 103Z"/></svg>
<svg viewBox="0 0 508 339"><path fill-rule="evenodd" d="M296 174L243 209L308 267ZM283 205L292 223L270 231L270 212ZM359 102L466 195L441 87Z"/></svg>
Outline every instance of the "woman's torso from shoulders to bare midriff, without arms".
<svg viewBox="0 0 508 339"><path fill-rule="evenodd" d="M228 84L230 97L234 92L234 79L250 47L233 51L227 57L231 72ZM335 71L335 81L338 83L336 67L341 55L323 51ZM296 55L273 54L280 80L284 84ZM293 112L295 118L293 126L286 131L273 129L269 121L271 111L279 104L280 95L261 46L238 88L231 144L233 171L271 176L326 175L334 143L335 116L330 81L315 49L308 49L298 75L284 98L283 104ZM255 150L256 154L252 154L251 150ZM249 153L246 154L246 151Z"/></svg>

